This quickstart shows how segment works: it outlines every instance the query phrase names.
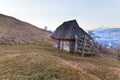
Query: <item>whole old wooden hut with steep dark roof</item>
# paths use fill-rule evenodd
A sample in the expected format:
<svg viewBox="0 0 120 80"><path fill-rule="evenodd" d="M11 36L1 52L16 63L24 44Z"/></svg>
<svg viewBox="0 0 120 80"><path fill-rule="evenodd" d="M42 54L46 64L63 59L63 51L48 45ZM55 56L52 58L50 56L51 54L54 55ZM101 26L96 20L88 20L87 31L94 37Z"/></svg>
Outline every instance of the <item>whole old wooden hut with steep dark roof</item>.
<svg viewBox="0 0 120 80"><path fill-rule="evenodd" d="M93 40L82 28L79 27L76 20L66 21L61 24L52 34L54 47L72 53L94 54Z"/></svg>

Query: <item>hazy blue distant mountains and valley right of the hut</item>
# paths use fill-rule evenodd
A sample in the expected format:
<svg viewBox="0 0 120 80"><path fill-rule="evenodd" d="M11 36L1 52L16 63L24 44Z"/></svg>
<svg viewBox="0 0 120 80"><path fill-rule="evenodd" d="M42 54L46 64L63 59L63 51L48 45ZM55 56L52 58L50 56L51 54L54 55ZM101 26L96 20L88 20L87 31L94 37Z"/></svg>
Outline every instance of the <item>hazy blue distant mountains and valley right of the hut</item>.
<svg viewBox="0 0 120 80"><path fill-rule="evenodd" d="M120 28L95 29L95 41L107 47L120 45Z"/></svg>

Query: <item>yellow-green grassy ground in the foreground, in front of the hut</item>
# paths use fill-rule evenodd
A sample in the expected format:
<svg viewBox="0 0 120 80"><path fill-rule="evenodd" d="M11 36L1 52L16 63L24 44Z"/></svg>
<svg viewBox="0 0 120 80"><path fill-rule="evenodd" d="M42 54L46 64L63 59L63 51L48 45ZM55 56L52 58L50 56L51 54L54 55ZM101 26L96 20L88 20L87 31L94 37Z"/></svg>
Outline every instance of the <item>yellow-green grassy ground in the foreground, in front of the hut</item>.
<svg viewBox="0 0 120 80"><path fill-rule="evenodd" d="M120 80L120 61L50 45L0 45L0 80Z"/></svg>

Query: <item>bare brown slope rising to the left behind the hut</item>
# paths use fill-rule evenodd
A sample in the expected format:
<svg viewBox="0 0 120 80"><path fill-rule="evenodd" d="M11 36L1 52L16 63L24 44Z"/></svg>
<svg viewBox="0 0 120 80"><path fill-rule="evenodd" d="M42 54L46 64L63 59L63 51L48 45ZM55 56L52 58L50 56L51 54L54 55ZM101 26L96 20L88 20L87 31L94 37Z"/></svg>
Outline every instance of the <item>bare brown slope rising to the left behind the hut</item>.
<svg viewBox="0 0 120 80"><path fill-rule="evenodd" d="M51 33L16 18L0 14L0 44L40 44Z"/></svg>

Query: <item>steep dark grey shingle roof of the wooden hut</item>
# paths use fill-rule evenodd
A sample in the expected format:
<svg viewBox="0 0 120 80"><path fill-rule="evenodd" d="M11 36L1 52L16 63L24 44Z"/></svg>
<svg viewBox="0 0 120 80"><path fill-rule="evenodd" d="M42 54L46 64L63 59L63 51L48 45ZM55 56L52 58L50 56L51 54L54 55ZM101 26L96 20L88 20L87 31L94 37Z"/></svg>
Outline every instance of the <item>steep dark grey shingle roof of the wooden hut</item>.
<svg viewBox="0 0 120 80"><path fill-rule="evenodd" d="M84 36L91 38L82 28L79 27L76 20L66 21L61 24L52 34L53 39L67 39L74 40L75 36L82 38Z"/></svg>

